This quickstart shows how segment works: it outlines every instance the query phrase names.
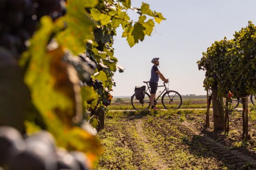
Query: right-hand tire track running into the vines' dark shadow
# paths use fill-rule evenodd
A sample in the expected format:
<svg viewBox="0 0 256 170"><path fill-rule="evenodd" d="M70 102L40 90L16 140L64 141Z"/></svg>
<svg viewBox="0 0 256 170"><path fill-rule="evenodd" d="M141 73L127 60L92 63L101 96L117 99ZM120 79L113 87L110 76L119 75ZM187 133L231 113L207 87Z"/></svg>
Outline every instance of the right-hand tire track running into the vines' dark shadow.
<svg viewBox="0 0 256 170"><path fill-rule="evenodd" d="M229 146L222 144L209 136L205 136L203 133L197 130L195 125L187 121L183 121L182 125L188 128L194 135L201 136L200 142L206 147L209 147L213 152L221 155L221 161L232 164L235 169L241 168L245 162L250 162L253 165L251 168L256 168L256 158L245 153L241 153L238 150L230 150ZM184 127L181 127L184 128ZM190 134L191 135L191 134ZM238 169L240 169L238 168Z"/></svg>

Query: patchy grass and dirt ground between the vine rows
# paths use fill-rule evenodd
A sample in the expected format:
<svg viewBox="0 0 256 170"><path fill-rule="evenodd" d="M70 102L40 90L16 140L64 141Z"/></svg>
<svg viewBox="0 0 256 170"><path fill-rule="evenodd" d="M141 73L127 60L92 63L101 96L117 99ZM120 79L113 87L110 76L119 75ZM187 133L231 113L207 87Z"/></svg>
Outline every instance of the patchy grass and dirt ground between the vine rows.
<svg viewBox="0 0 256 170"><path fill-rule="evenodd" d="M210 128L204 127L204 112L130 111L108 115L105 129L98 135L105 153L96 169L256 169L256 121L249 120L251 139L242 142L241 111L230 114L228 135L213 131L212 123Z"/></svg>

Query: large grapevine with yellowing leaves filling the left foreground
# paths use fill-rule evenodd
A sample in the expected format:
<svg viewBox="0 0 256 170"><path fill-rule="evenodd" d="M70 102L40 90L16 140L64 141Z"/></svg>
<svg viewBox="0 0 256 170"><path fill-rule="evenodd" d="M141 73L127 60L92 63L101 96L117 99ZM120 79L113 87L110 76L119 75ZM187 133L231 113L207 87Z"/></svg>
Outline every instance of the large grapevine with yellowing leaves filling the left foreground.
<svg viewBox="0 0 256 170"><path fill-rule="evenodd" d="M57 148L81 151L85 166L95 165L102 148L94 127L104 128L114 72L123 71L112 48L116 28L122 26L123 37L133 46L152 33L155 22L165 19L146 3L141 8L130 4L130 0L0 1L0 16L5 16L0 17L0 141L10 142L0 142L7 149L0 155L8 158L1 167L9 169L9 162L29 150L34 156L12 168L27 169L40 157L36 151L41 145L30 143L30 136L46 131L54 136ZM138 21L130 21L128 9L140 14ZM11 152L9 144L16 141L8 139L8 129L25 148ZM38 164L35 169L76 170L60 166L58 160L54 164L46 168Z"/></svg>

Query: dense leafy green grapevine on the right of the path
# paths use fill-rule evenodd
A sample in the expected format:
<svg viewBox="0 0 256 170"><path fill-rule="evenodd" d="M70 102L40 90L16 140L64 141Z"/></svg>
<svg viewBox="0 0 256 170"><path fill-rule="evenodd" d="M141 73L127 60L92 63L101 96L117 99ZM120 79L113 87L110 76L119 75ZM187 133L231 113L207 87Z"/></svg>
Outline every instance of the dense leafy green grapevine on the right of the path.
<svg viewBox="0 0 256 170"><path fill-rule="evenodd" d="M236 98L242 98L242 138L246 140L249 139L247 96L256 93L255 34L256 26L249 21L248 26L236 32L232 40L224 38L214 42L197 62L199 70L206 71L204 79L206 90L211 87L217 89L221 101L222 97L226 97L230 92L234 93Z"/></svg>

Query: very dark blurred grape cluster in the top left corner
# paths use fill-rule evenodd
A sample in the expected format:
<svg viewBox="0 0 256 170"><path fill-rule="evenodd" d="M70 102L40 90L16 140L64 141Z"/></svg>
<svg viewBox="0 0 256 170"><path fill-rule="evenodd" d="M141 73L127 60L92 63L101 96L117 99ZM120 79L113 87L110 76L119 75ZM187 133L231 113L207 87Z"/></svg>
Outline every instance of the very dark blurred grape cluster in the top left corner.
<svg viewBox="0 0 256 170"><path fill-rule="evenodd" d="M64 0L0 0L0 46L19 58L42 16L56 19L64 14Z"/></svg>

